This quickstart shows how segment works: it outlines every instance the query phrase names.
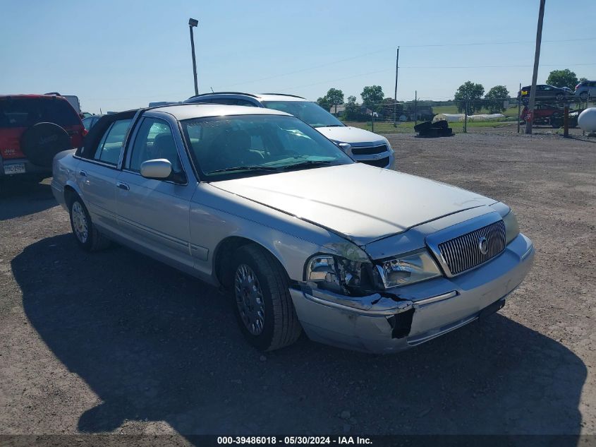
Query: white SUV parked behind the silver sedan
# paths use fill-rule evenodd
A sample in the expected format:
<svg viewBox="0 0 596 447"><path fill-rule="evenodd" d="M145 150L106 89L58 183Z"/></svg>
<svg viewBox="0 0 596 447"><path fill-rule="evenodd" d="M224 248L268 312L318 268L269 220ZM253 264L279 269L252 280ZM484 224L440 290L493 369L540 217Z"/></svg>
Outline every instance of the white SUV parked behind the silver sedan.
<svg viewBox="0 0 596 447"><path fill-rule="evenodd" d="M346 126L316 102L308 101L300 96L281 93L252 95L250 93L219 92L196 95L184 102L243 105L280 110L302 119L334 143L348 143L351 148L344 147L346 153L358 162L377 167L391 168L394 166L394 151L387 138L364 129Z"/></svg>

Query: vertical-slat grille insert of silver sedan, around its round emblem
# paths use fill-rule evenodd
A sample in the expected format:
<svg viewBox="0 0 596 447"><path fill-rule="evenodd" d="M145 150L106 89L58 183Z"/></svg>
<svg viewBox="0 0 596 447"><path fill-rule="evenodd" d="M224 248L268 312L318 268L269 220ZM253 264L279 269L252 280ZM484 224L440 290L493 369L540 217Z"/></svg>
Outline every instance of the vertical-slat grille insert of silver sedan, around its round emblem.
<svg viewBox="0 0 596 447"><path fill-rule="evenodd" d="M480 251L480 239L487 239L487 252ZM439 251L451 275L465 272L489 261L505 249L505 224L502 220L439 244Z"/></svg>

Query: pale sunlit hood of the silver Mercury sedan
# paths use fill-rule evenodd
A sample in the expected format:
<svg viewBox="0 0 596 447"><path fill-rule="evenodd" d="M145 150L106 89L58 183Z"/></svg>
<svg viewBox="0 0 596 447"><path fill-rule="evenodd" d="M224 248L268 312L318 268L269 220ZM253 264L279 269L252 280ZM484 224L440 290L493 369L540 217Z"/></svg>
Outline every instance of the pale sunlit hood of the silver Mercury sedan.
<svg viewBox="0 0 596 447"><path fill-rule="evenodd" d="M362 163L214 181L212 186L325 227L360 246L495 202L456 186Z"/></svg>

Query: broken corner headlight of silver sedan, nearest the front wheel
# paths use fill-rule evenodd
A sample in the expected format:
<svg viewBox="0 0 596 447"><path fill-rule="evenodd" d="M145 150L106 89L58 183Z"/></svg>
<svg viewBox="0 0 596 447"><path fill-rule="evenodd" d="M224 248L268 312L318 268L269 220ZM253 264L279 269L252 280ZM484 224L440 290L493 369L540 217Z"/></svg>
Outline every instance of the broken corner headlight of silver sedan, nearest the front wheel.
<svg viewBox="0 0 596 447"><path fill-rule="evenodd" d="M363 285L367 270L372 271L372 264L320 254L312 256L306 263L305 279L334 292L350 292ZM367 279L364 282L370 282Z"/></svg>

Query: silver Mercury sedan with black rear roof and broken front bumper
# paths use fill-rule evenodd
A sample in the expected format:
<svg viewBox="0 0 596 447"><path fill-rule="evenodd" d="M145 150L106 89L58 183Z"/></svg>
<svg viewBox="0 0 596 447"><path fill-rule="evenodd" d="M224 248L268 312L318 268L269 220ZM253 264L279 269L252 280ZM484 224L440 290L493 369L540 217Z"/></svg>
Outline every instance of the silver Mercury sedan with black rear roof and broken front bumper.
<svg viewBox="0 0 596 447"><path fill-rule="evenodd" d="M82 249L114 239L221 286L260 350L302 330L369 352L419 345L501 309L534 256L504 203L355 163L262 107L102 117L56 155L51 187Z"/></svg>

